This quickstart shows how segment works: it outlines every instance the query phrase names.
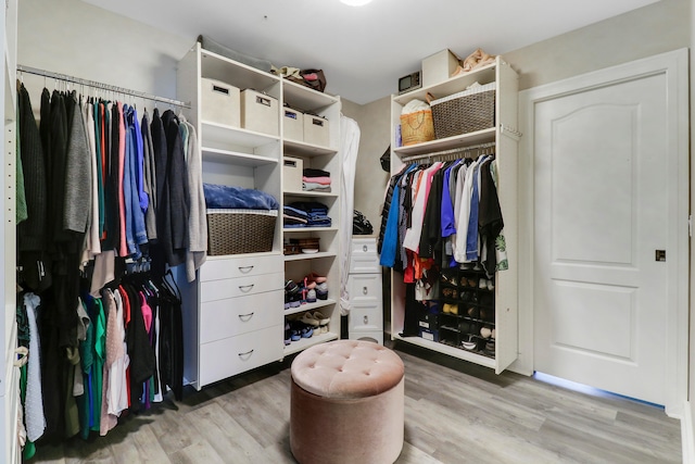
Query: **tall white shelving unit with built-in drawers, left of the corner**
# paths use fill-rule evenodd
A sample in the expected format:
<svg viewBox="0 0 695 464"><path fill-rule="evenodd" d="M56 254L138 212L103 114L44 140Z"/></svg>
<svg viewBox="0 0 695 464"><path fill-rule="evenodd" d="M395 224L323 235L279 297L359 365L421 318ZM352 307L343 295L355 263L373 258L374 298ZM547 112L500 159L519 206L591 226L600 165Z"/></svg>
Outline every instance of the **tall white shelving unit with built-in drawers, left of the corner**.
<svg viewBox="0 0 695 464"><path fill-rule="evenodd" d="M280 112L277 136L226 126L205 121L201 111L201 79L210 78L238 87L254 89L278 100ZM178 66L177 96L191 102L185 112L199 134L203 159L203 181L253 188L265 191L281 204L290 201L320 199L329 205L333 220L330 228L287 229L279 211L273 249L264 253L207 256L198 278L184 284L185 379L198 389L214 381L279 361L286 355L312 344L338 338L340 313L334 300L305 304L296 310L283 310L286 279L300 280L316 272L326 275L337 292L340 283L338 266L338 195L309 196L286 192L282 179L282 156L302 156L306 165L336 172L338 155L340 99L283 80L226 57L195 46ZM282 105L313 111L327 117L331 137L329 147L319 147L282 137ZM334 190L338 191L338 186ZM289 237L319 237L321 250L312 255L282 254L282 243ZM179 273L179 283L185 278ZM283 344L285 317L307 310L330 314L330 331L290 346Z"/></svg>

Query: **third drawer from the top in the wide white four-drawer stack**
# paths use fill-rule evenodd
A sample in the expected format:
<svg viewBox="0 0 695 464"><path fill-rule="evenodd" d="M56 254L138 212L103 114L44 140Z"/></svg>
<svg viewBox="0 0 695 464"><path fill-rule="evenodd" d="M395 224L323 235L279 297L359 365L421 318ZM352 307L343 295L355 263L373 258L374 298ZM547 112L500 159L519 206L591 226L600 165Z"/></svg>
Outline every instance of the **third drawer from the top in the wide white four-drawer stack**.
<svg viewBox="0 0 695 464"><path fill-rule="evenodd" d="M281 290L216 300L200 305L200 342L207 343L282 322Z"/></svg>

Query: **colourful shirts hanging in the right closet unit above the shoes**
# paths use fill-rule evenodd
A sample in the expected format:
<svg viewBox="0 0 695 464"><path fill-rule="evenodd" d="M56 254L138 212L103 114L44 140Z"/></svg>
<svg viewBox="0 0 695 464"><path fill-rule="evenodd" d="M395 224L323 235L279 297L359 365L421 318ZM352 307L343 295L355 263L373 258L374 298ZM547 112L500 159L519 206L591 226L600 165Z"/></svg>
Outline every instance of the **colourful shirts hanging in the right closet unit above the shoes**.
<svg viewBox="0 0 695 464"><path fill-rule="evenodd" d="M506 266L497 266L497 256L503 256L498 250L504 221L493 177L495 165L494 156L489 155L410 164L390 179L387 196L391 191L391 199L382 210L380 262L403 271L405 283L419 283L418 296L432 293L435 283L431 276L439 267L482 265L491 277ZM427 281L422 280L426 274Z"/></svg>

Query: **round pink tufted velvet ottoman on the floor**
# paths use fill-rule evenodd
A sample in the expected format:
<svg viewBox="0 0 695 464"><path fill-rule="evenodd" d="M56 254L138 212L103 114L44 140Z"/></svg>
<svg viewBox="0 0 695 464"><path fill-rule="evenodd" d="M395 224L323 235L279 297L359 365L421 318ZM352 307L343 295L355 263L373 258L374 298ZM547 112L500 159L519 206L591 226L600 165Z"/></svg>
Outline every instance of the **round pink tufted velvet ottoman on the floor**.
<svg viewBox="0 0 695 464"><path fill-rule="evenodd" d="M401 454L403 361L370 341L315 344L292 362L290 448L301 464L390 464Z"/></svg>

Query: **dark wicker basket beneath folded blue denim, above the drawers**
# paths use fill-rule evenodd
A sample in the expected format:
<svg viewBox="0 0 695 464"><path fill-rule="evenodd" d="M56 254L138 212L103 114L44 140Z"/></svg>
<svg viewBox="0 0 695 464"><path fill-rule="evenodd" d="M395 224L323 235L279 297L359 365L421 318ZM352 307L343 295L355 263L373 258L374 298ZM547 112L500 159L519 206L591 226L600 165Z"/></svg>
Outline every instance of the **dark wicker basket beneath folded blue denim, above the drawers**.
<svg viewBox="0 0 695 464"><path fill-rule="evenodd" d="M207 254L273 250L277 210L207 210Z"/></svg>

